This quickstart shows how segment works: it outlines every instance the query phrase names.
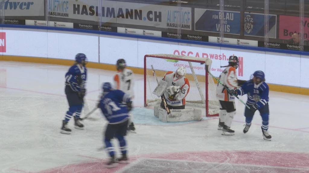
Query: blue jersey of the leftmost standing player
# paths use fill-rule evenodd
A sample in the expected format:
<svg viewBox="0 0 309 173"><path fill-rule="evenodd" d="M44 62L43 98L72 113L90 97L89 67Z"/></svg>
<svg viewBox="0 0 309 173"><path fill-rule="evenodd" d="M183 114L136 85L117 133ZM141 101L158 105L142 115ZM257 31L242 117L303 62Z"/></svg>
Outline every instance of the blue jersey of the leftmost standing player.
<svg viewBox="0 0 309 173"><path fill-rule="evenodd" d="M87 68L75 64L70 67L66 73L66 85L70 86L72 91L81 91L85 88L87 80Z"/></svg>

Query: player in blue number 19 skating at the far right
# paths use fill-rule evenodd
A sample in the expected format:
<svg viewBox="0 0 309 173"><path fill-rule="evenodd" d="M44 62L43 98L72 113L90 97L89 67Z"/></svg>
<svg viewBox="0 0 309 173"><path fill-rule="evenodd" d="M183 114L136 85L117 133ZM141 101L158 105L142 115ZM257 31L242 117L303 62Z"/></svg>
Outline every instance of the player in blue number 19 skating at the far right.
<svg viewBox="0 0 309 173"><path fill-rule="evenodd" d="M252 79L245 82L239 89L230 90L230 95L245 95L247 94L247 105L250 107L245 109L246 125L243 133L247 133L251 126L252 118L256 110L260 112L262 117L262 134L265 140L271 140L271 135L268 133L269 127L269 105L268 94L269 87L265 83L265 74L263 71L255 71Z"/></svg>

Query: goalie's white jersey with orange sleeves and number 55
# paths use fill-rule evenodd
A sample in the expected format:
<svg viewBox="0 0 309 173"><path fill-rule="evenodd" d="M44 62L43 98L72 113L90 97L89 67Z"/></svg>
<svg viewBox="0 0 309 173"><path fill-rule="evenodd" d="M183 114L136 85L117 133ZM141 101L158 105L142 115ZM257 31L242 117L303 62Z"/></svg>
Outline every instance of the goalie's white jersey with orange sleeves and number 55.
<svg viewBox="0 0 309 173"><path fill-rule="evenodd" d="M175 95L173 100L168 98L167 91L164 92L164 97L166 99L166 103L170 106L183 106L186 104L185 97L189 93L190 83L189 80L185 77L176 78L175 73L172 71L168 71L162 80L167 82L167 86L180 86L180 91Z"/></svg>

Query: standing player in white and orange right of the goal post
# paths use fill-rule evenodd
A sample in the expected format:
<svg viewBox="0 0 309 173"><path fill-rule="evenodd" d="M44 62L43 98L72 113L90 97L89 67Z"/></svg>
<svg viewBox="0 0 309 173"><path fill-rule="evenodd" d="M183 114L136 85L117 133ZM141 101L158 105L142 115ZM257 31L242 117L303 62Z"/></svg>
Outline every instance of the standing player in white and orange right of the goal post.
<svg viewBox="0 0 309 173"><path fill-rule="evenodd" d="M229 90L233 90L246 82L237 79L236 69L238 68L238 64L238 57L230 56L229 65L225 66L226 68L220 75L220 81L224 86L228 87ZM222 130L222 135L234 135L235 131L231 130L230 127L234 119L234 115L236 114L235 96L229 95L223 85L218 83L216 88L216 96L220 102L218 130Z"/></svg>

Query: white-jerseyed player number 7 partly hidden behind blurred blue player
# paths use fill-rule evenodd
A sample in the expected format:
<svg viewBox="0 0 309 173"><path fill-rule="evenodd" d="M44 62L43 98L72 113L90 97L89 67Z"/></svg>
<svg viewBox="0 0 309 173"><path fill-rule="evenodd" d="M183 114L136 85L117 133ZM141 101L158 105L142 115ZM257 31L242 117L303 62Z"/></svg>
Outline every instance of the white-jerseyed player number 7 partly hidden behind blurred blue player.
<svg viewBox="0 0 309 173"><path fill-rule="evenodd" d="M126 68L126 63L124 59L118 59L116 62L117 73L114 76L114 86L117 90L121 90L126 94L129 94L132 98L134 98L133 92L133 72L130 69ZM133 115L130 114L130 122L128 131L135 132L135 127L133 123Z"/></svg>

